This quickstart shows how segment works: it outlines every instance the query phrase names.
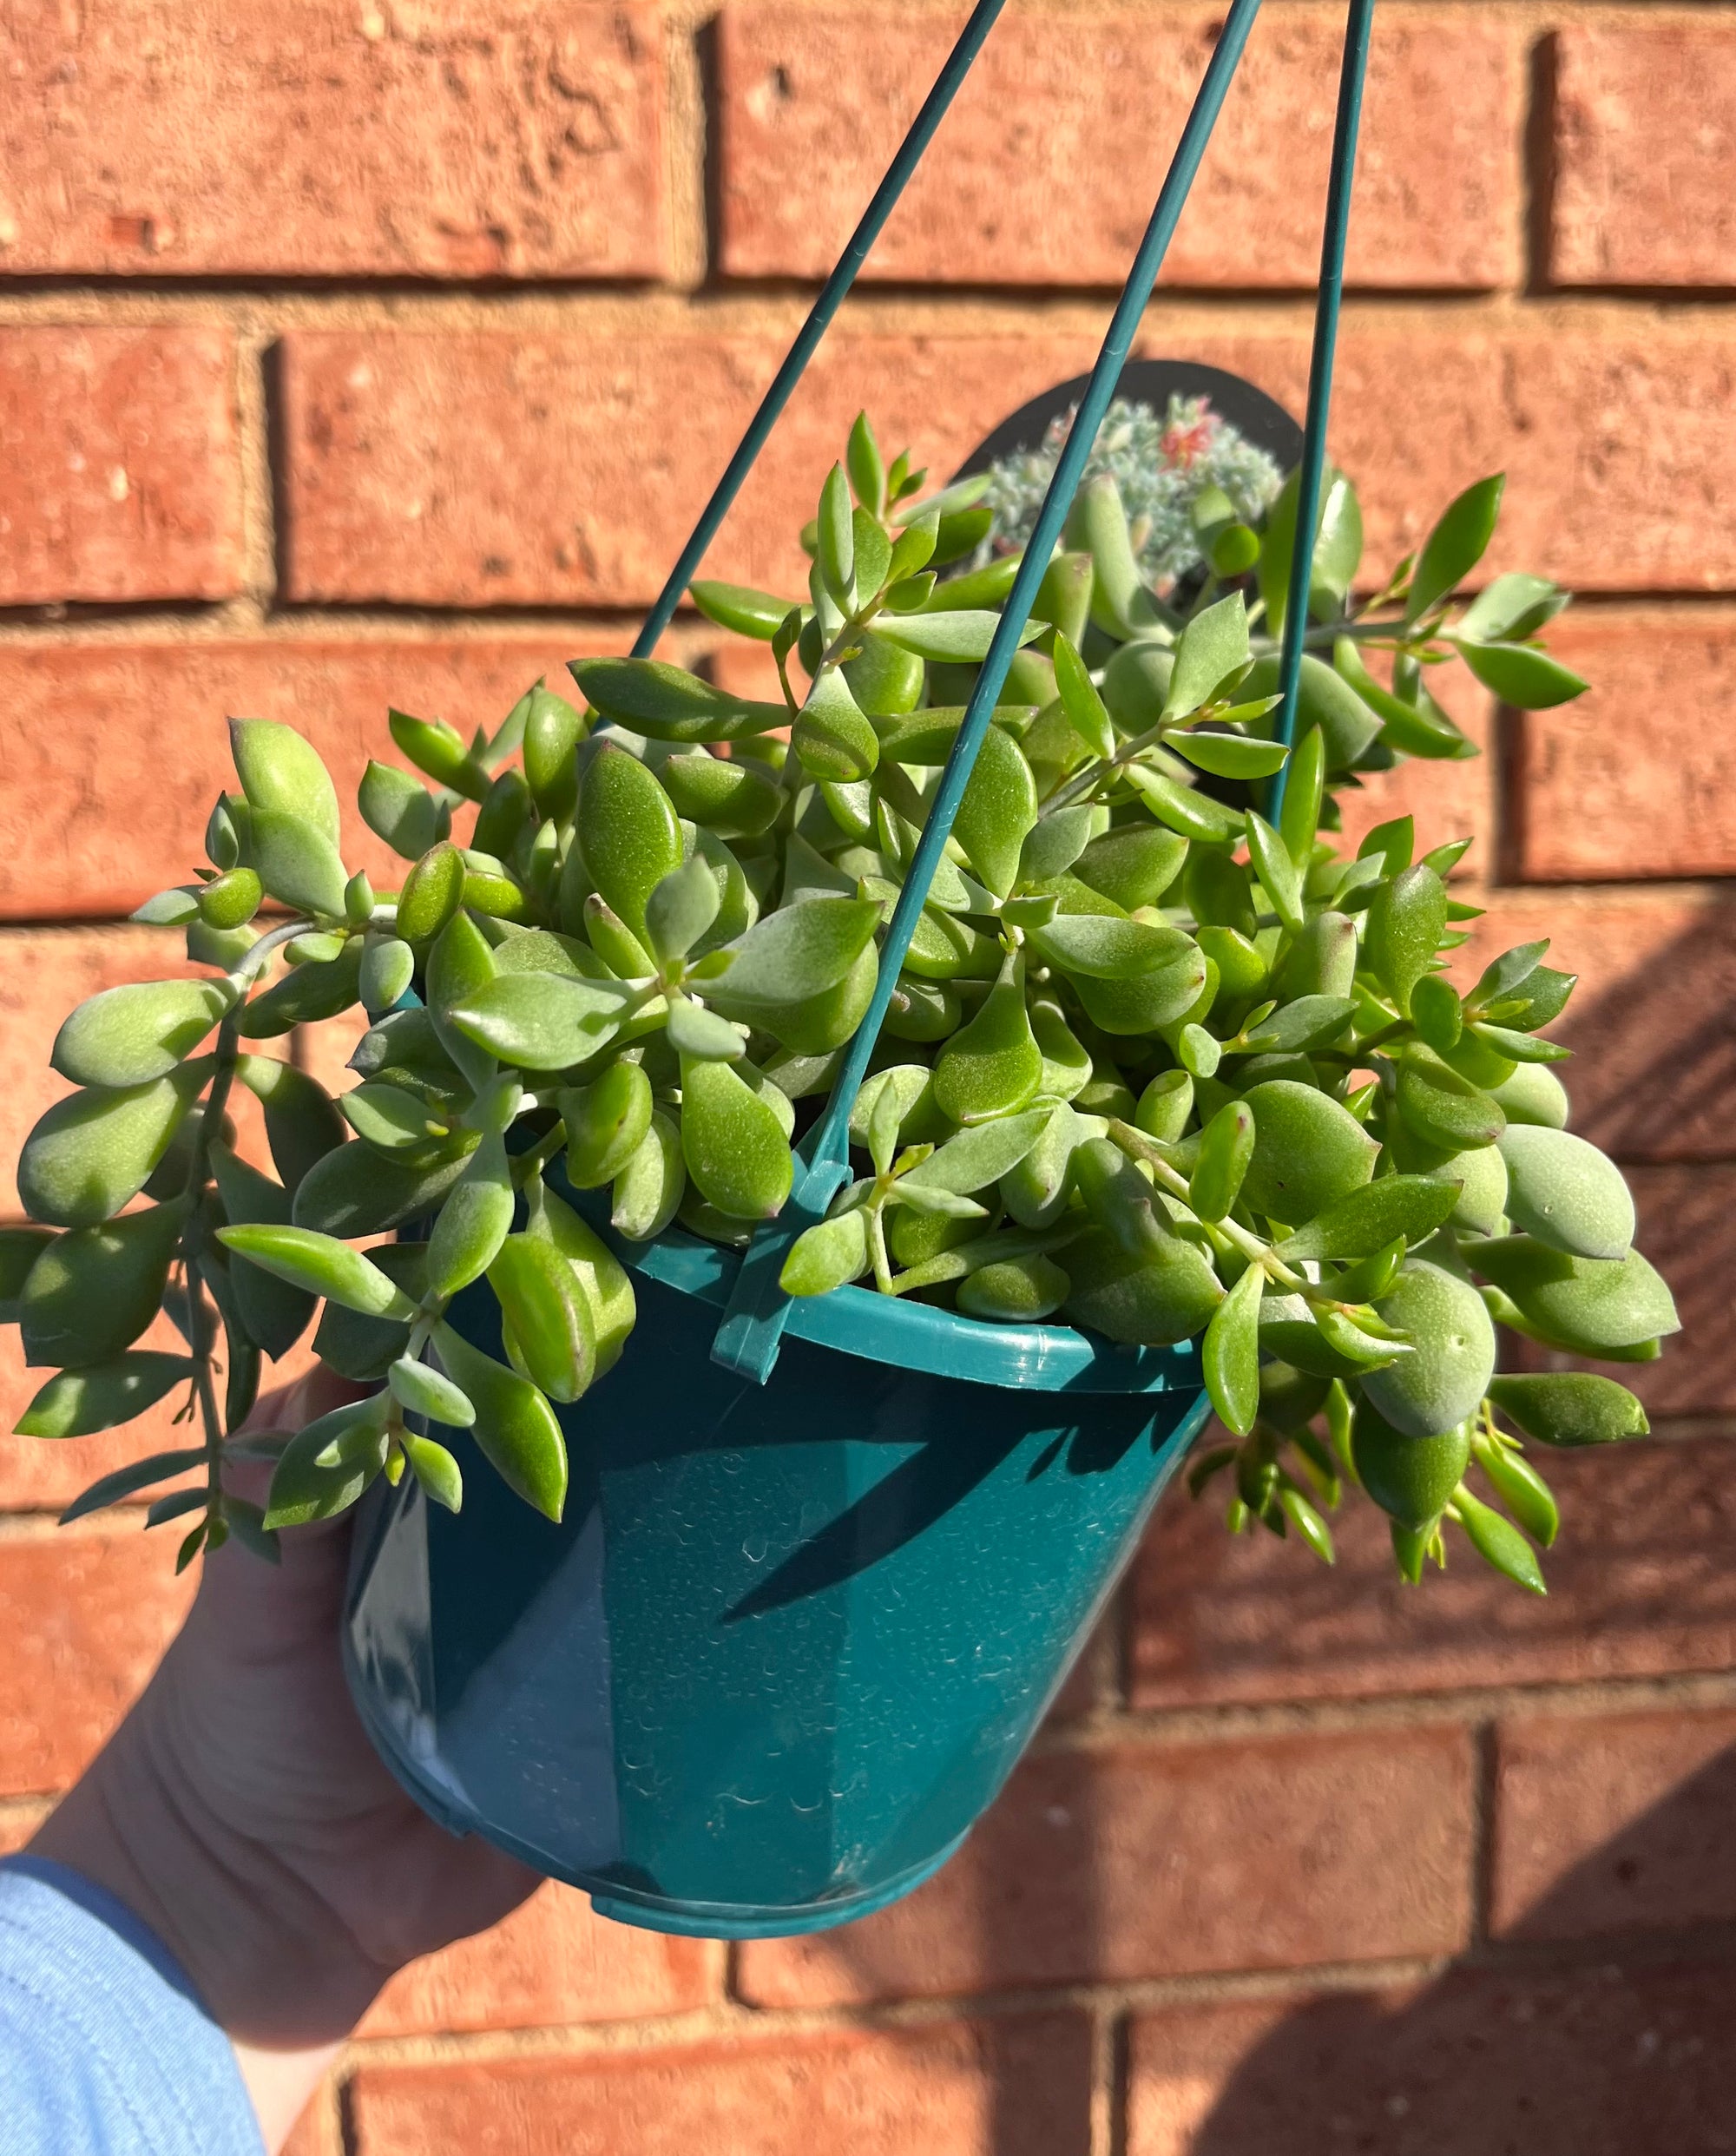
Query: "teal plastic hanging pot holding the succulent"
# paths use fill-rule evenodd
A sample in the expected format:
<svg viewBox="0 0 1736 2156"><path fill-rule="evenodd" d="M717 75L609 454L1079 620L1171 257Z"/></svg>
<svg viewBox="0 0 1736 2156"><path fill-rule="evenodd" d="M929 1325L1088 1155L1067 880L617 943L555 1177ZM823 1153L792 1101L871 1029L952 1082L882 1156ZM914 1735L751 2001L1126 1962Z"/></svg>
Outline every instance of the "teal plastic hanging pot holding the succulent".
<svg viewBox="0 0 1736 2156"><path fill-rule="evenodd" d="M427 1811L608 1917L845 1923L1007 1779L1203 1421L1197 1356L845 1287L759 1386L709 1358L729 1253L615 1248L638 1324L563 1410L565 1520L440 1432L464 1514L380 1485L352 1692ZM487 1313L455 1304L500 1354Z"/></svg>

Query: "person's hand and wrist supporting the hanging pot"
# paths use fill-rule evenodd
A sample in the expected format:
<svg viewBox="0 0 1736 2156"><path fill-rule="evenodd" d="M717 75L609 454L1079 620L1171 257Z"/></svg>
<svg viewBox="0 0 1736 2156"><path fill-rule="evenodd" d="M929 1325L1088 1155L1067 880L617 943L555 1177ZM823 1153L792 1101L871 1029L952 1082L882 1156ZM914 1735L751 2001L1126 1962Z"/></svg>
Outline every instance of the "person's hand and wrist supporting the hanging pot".
<svg viewBox="0 0 1736 2156"><path fill-rule="evenodd" d="M326 1369L261 1399L300 1429L352 1397ZM399 1789L339 1662L349 1516L205 1559L179 1636L30 1843L108 1887L229 2033L278 2150L386 1979L498 1923L539 1884Z"/></svg>

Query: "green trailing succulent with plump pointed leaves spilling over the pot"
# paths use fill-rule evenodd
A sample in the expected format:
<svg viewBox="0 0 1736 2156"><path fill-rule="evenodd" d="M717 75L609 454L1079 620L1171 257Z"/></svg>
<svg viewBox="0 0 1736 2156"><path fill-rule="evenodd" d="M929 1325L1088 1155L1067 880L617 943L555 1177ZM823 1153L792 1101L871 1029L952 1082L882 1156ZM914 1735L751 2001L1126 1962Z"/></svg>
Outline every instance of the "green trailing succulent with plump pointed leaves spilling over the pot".
<svg viewBox="0 0 1736 2156"><path fill-rule="evenodd" d="M468 744L392 711L412 770L371 763L358 804L405 862L395 893L345 867L306 740L233 722L209 865L138 916L185 929L207 972L71 1013L54 1065L78 1091L19 1162L37 1225L0 1233L0 1317L54 1369L22 1432L104 1429L177 1391L198 1419L198 1442L73 1514L175 1483L149 1520L190 1522L181 1563L231 1533L270 1554L380 1475L457 1507L440 1427L561 1514L554 1406L634 1324L621 1248L740 1248L789 1197L1016 573L1011 554L968 567L986 487L923 494L858 418L807 533L809 597L692 586L770 647L776 701L591 658L584 709L539 683ZM1494 1326L1620 1363L1676 1313L1622 1177L1563 1128L1544 1028L1572 977L1533 942L1453 987L1469 841L1415 858L1408 817L1354 856L1331 839L1361 774L1471 755L1434 666L1516 705L1583 688L1538 642L1553 584L1453 604L1499 498L1499 479L1466 489L1356 602L1361 513L1333 474L1285 750L1294 483L1253 522L1195 489L1208 576L1184 612L1143 573L1115 476L1083 489L854 1102L860 1173L783 1285L1201 1337L1227 1440L1193 1483L1229 1477L1231 1526L1331 1559L1322 1511L1348 1481L1391 1516L1406 1578L1453 1526L1540 1589L1555 1505L1523 1440L1645 1416L1609 1378L1497 1378ZM257 1050L358 1003L339 1102ZM263 1104L276 1177L235 1151L235 1087ZM479 1283L505 1360L455 1322ZM233 1438L261 1358L321 1302L317 1352L377 1391ZM136 1345L160 1311L181 1350ZM263 1509L226 1483L246 1449L276 1460Z"/></svg>

